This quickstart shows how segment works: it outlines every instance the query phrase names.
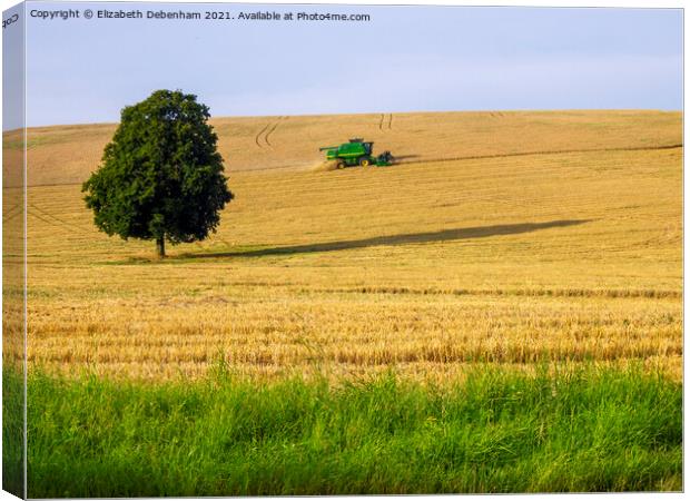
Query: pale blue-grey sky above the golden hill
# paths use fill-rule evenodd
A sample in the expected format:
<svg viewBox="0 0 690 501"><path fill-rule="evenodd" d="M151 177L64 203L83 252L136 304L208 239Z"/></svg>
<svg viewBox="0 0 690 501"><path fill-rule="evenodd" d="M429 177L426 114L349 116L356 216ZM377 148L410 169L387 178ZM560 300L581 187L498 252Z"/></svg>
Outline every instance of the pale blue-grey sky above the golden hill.
<svg viewBox="0 0 690 501"><path fill-rule="evenodd" d="M214 116L682 108L680 9L29 2L27 12L69 8L371 21L29 16L28 126L118 121L162 88L197 95Z"/></svg>

